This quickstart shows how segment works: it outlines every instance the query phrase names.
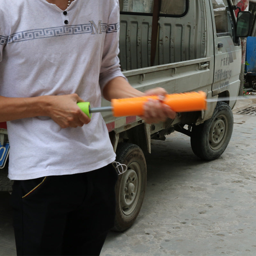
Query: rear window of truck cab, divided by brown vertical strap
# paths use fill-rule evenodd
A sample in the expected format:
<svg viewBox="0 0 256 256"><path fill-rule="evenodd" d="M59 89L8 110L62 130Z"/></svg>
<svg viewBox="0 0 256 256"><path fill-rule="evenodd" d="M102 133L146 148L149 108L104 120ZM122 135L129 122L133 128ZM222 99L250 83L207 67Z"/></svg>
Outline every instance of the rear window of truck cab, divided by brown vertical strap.
<svg viewBox="0 0 256 256"><path fill-rule="evenodd" d="M160 15L184 15L188 9L187 0L162 0ZM120 12L153 13L154 0L119 0Z"/></svg>

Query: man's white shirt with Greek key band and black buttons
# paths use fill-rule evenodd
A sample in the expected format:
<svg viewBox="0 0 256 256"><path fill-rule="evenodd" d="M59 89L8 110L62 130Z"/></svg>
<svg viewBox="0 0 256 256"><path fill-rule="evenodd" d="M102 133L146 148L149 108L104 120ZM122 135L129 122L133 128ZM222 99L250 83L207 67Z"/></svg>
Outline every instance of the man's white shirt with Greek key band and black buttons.
<svg viewBox="0 0 256 256"><path fill-rule="evenodd" d="M0 0L0 95L77 93L100 107L104 85L120 71L118 0L74 0L66 11L46 0ZM7 122L9 178L88 172L115 160L100 113L61 129L38 116Z"/></svg>

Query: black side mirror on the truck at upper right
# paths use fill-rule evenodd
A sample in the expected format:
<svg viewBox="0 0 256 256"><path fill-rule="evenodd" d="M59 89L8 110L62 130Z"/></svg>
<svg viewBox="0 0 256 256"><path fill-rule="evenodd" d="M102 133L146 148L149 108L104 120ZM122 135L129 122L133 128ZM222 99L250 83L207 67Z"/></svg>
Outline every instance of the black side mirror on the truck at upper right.
<svg viewBox="0 0 256 256"><path fill-rule="evenodd" d="M252 13L248 11L238 12L236 20L236 36L247 37L250 35Z"/></svg>

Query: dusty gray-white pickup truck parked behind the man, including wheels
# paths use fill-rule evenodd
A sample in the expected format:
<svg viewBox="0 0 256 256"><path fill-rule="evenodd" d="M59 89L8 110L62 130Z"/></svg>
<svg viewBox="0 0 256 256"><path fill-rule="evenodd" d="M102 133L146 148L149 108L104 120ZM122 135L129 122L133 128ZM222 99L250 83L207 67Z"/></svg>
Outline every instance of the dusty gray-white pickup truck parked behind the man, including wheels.
<svg viewBox="0 0 256 256"><path fill-rule="evenodd" d="M120 65L133 87L145 91L160 86L168 93L204 91L207 99L216 100L238 95L239 36L247 36L248 12L240 12L236 22L236 7L229 0L119 2ZM102 100L102 106L109 104ZM235 101L227 98L213 101L207 110L177 113L174 120L158 124L146 124L139 116L102 113L116 161L128 166L116 184L117 230L130 227L140 212L147 180L143 151L150 152L150 141L183 132L190 136L196 156L215 159L230 140L234 105ZM0 131L4 134L4 129ZM7 140L4 136L1 143Z"/></svg>

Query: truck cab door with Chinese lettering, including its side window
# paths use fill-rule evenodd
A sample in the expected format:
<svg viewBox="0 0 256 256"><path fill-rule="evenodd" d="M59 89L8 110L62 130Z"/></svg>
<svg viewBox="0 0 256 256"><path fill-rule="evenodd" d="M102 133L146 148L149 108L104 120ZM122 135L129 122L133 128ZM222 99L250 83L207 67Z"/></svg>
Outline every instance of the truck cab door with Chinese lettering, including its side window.
<svg viewBox="0 0 256 256"><path fill-rule="evenodd" d="M215 64L212 96L236 97L240 86L241 46L235 37L235 16L228 0L211 0L215 24ZM230 101L232 108L235 101Z"/></svg>

